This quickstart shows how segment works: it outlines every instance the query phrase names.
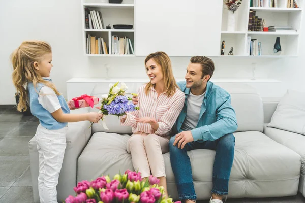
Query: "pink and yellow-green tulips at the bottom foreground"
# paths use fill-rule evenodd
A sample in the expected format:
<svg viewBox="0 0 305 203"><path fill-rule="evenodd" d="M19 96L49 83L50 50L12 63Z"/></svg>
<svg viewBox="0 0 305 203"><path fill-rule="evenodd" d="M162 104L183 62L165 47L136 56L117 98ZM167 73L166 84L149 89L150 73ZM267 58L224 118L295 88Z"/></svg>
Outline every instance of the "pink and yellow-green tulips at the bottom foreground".
<svg viewBox="0 0 305 203"><path fill-rule="evenodd" d="M81 181L74 187L76 196L69 195L66 203L173 203L164 196L164 188L153 176L143 181L140 172L127 170L124 175L98 177L92 182ZM174 203L181 203L176 201Z"/></svg>

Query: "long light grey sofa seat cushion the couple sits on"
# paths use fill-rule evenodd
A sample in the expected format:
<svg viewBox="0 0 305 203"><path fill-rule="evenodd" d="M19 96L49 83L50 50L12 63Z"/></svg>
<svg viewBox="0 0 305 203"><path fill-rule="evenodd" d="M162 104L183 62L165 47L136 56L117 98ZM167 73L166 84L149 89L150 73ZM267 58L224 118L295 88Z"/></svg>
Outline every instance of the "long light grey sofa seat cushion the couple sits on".
<svg viewBox="0 0 305 203"><path fill-rule="evenodd" d="M300 156L258 131L235 133L235 154L229 182L230 197L287 196L297 193ZM78 159L77 180L92 180L98 176L133 170L127 153L128 135L94 133ZM214 150L188 152L198 199L210 197ZM169 153L163 155L168 192L177 198L175 179ZM281 189L279 189L281 188Z"/></svg>

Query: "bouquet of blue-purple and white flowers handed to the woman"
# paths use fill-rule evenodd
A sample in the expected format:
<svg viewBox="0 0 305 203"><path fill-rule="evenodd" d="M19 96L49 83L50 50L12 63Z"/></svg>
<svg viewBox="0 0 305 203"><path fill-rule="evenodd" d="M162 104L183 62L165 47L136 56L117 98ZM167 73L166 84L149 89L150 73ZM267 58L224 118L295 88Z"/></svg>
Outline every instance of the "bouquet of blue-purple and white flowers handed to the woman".
<svg viewBox="0 0 305 203"><path fill-rule="evenodd" d="M100 112L104 116L106 115L116 115L116 116L123 116L129 111L139 110L139 107L136 107L132 103L132 98L125 96L126 94L130 94L133 96L137 96L135 93L126 93L128 87L125 83L121 83L120 87L117 87L119 82L115 83L114 85L109 84L109 93L102 95L101 98L101 108ZM101 119L104 120L103 118ZM90 127L93 123L90 125ZM106 124L103 123L105 129L108 129ZM89 127L89 128L90 128Z"/></svg>

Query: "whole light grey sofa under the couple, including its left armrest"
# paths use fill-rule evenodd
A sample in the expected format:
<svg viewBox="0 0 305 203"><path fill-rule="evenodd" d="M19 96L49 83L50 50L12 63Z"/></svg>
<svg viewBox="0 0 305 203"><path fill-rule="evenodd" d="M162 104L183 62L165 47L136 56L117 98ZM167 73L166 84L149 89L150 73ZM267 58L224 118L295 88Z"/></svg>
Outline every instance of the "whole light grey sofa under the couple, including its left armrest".
<svg viewBox="0 0 305 203"><path fill-rule="evenodd" d="M129 92L135 92L141 83L126 83ZM273 141L263 134L264 119L272 116L274 106L263 104L257 92L247 85L222 86L232 97L238 129L234 133L235 154L229 181L228 198L276 197L296 195L299 187L301 157L294 150ZM92 95L108 92L108 84L94 88ZM74 111L95 111L84 108ZM264 118L265 117L265 118ZM110 130L89 122L69 123L67 149L57 187L58 201L74 194L73 187L81 180L92 180L102 174L113 176L127 169L133 170L131 155L126 143L131 128L120 126L115 116L107 116ZM39 202L38 152L36 141L29 142L34 201ZM193 150L191 158L193 178L198 200L208 199L212 188L212 166L215 151ZM174 175L169 153L164 154L168 192L177 199ZM303 184L303 183L302 183Z"/></svg>

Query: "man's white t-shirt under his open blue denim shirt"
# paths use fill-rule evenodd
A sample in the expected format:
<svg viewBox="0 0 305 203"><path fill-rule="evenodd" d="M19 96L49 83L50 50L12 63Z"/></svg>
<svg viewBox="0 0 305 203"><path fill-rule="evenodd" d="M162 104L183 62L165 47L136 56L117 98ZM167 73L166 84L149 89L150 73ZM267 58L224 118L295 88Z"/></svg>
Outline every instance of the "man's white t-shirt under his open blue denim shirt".
<svg viewBox="0 0 305 203"><path fill-rule="evenodd" d="M181 129L184 131L195 129L198 120L199 120L199 114L201 110L201 105L203 103L205 92L201 95L194 95L190 91L190 94L188 96L187 104L187 116L185 118L184 123L182 124Z"/></svg>

